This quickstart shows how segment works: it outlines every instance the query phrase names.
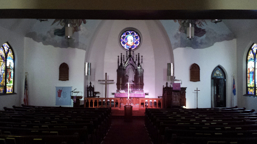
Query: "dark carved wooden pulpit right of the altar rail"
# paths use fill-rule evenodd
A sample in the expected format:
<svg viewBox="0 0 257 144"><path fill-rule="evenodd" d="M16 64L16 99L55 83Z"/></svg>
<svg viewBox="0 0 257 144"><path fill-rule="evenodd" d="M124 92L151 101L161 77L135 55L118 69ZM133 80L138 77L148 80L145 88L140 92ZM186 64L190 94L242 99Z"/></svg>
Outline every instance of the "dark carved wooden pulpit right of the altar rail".
<svg viewBox="0 0 257 144"><path fill-rule="evenodd" d="M162 89L162 99L163 108L173 108L173 107L186 107L186 87L181 87L180 90L173 90L173 87L163 86Z"/></svg>

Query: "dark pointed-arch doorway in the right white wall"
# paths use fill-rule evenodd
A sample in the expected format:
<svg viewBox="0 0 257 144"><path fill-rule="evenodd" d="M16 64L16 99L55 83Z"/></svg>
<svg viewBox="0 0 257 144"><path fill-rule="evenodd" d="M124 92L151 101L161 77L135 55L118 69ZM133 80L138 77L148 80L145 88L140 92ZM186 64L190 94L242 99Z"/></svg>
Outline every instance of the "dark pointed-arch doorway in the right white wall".
<svg viewBox="0 0 257 144"><path fill-rule="evenodd" d="M226 75L223 69L217 66L211 76L211 107L226 107Z"/></svg>

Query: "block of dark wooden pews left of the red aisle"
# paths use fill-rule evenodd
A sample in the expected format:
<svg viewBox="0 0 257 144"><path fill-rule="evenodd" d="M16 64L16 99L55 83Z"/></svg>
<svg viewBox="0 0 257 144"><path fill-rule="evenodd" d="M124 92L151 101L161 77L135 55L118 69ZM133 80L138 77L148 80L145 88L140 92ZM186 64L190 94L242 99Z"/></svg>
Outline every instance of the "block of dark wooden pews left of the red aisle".
<svg viewBox="0 0 257 144"><path fill-rule="evenodd" d="M0 144L99 144L111 108L13 106L0 111Z"/></svg>

